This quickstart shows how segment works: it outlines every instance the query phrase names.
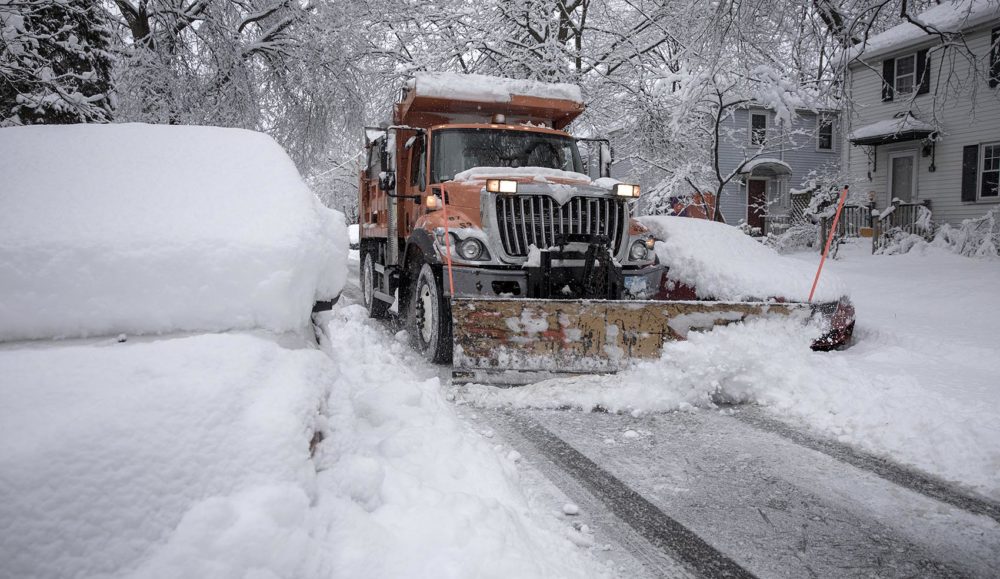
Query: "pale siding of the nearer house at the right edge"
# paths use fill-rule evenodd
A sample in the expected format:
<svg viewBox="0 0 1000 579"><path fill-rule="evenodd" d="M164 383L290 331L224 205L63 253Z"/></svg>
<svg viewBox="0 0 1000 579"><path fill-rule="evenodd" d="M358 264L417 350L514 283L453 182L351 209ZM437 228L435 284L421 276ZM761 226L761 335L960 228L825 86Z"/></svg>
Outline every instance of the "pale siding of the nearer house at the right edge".
<svg viewBox="0 0 1000 579"><path fill-rule="evenodd" d="M995 21L965 33L968 46L979 58L981 67L988 66L990 29L998 25L1000 21ZM962 201L961 195L963 147L1000 142L1000 88L990 88L984 78L970 78L972 69L967 60L945 58L946 53L931 51L931 91L917 96L896 95L893 101L883 102L882 61L933 45L934 42L926 42L852 66L848 88L849 100L855 104L846 111L845 120L851 129L856 129L909 110L922 121L934 122L940 131L934 147L936 170L930 170L932 159L929 154L925 156L921 141L878 145L874 148L874 163L869 156L872 153L870 147L848 144L845 145L844 159L855 186L870 192L879 207L886 207L890 202L889 156L892 153L915 153L916 187L913 200L930 201L934 221L954 225L963 219L980 217L1000 202L1000 199ZM939 86L940 93L936 95L935 89Z"/></svg>

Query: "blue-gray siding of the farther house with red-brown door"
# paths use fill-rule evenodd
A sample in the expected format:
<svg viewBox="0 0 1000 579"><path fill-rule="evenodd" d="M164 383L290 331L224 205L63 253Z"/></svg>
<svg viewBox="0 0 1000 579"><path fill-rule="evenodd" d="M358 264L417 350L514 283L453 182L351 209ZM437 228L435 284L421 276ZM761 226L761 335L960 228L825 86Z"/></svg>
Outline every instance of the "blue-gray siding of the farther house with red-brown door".
<svg viewBox="0 0 1000 579"><path fill-rule="evenodd" d="M750 143L750 114L766 114L767 146L763 149ZM837 171L840 167L841 127L839 114L822 113L824 118L833 120L833 148L820 150L817 146L817 130L820 114L813 111L798 111L789 126L777 123L773 111L761 108L738 109L727 121L727 134L719 147L719 161L723 175L731 173L741 163L753 157L777 159L791 167L791 175L769 175L766 171L755 171L753 175L738 175L726 184L721 199L722 214L726 222L738 225L748 219L747 180L764 178L767 181L767 213L769 218L787 216L791 210L790 189L801 188L811 172Z"/></svg>

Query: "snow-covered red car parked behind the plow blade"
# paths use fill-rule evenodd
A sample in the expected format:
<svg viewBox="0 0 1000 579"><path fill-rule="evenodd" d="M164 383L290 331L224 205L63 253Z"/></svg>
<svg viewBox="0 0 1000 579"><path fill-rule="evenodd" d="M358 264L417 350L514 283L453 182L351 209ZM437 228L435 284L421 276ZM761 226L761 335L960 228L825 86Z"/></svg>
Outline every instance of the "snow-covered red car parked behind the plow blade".
<svg viewBox="0 0 1000 579"><path fill-rule="evenodd" d="M816 274L809 262L779 255L724 223L676 216L640 222L656 237L657 258L666 266L654 299L809 302ZM810 303L826 324L813 349L846 344L854 332L854 306L844 283L824 272Z"/></svg>

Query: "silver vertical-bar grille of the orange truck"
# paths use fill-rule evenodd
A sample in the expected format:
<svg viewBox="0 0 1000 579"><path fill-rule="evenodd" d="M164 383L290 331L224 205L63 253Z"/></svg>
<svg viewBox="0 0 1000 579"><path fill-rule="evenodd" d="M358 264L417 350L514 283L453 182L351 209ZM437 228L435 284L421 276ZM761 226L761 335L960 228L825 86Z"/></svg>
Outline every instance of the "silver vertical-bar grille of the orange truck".
<svg viewBox="0 0 1000 579"><path fill-rule="evenodd" d="M562 206L548 195L497 196L497 225L504 251L528 255L528 246L546 249L558 234L605 235L612 248L621 247L627 211L617 199L573 197Z"/></svg>

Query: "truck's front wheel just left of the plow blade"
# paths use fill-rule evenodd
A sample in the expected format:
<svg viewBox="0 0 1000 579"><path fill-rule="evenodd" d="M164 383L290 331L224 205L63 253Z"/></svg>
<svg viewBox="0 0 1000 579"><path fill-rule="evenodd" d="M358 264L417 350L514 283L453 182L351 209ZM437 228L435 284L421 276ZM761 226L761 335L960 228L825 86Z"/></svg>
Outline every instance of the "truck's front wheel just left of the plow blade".
<svg viewBox="0 0 1000 579"><path fill-rule="evenodd" d="M408 329L414 348L435 364L451 362L451 307L439 276L425 263L411 287Z"/></svg>

